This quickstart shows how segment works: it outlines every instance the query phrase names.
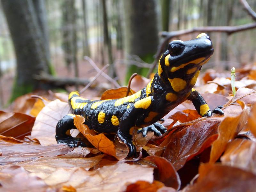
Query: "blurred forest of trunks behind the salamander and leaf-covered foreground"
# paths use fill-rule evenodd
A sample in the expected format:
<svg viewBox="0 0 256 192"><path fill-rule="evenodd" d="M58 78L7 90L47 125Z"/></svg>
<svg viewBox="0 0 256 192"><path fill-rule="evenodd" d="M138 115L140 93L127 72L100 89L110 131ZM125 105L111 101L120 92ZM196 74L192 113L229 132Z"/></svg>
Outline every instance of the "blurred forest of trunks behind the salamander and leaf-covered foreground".
<svg viewBox="0 0 256 192"><path fill-rule="evenodd" d="M256 10L254 0L247 2ZM134 72L149 76L166 42L204 31L215 48L204 70L256 61L255 22L239 0L2 0L0 6L0 108L38 89L81 89L99 72L93 62L109 63L108 75L121 85ZM118 86L104 82L99 77L94 87L102 90L88 97Z"/></svg>

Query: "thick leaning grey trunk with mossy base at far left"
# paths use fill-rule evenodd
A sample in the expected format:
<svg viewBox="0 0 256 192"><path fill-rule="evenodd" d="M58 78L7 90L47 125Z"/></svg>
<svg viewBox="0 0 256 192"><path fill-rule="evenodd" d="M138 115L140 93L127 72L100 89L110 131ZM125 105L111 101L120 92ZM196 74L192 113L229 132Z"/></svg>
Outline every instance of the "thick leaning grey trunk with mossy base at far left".
<svg viewBox="0 0 256 192"><path fill-rule="evenodd" d="M49 85L35 80L33 75L50 73L51 66L32 0L2 0L2 6L17 59L12 101L35 89L48 89Z"/></svg>

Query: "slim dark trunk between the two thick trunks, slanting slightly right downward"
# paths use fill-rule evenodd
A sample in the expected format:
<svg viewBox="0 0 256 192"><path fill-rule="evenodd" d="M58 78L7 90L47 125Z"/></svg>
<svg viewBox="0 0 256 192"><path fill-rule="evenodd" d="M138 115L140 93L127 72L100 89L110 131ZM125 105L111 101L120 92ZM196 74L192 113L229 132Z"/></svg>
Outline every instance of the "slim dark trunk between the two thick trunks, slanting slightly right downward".
<svg viewBox="0 0 256 192"><path fill-rule="evenodd" d="M102 11L103 11L102 16L103 16L104 45L108 50L108 62L109 62L108 75L114 78L116 77L116 69L113 65L111 37L108 34L108 15L107 15L106 0L101 0L101 4L102 4Z"/></svg>

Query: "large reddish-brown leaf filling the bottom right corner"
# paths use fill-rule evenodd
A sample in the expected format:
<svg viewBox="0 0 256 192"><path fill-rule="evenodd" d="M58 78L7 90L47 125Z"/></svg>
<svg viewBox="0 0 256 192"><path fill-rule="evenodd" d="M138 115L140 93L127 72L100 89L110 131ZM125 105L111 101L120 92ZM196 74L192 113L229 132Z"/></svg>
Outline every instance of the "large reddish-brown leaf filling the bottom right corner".
<svg viewBox="0 0 256 192"><path fill-rule="evenodd" d="M235 167L220 164L201 164L199 177L184 192L255 191L256 175Z"/></svg>

